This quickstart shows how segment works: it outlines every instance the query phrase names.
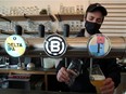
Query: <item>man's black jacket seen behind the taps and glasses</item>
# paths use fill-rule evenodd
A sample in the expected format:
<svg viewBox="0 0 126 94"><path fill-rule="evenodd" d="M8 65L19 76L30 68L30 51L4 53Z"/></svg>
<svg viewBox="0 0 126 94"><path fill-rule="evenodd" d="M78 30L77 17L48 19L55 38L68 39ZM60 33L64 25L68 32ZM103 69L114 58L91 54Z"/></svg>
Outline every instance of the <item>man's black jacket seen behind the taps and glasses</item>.
<svg viewBox="0 0 126 94"><path fill-rule="evenodd" d="M83 29L77 36L84 37L85 30ZM70 64L73 58L67 58ZM72 91L72 92L84 92L84 93L96 93L96 88L89 81L89 65L90 58L80 58L83 61L81 73L76 78L72 86L67 86L65 83L61 82L61 91ZM116 58L93 58L93 64L99 64L101 70L103 71L105 78L112 78L115 88L121 82L121 69L116 64ZM59 70L61 67L65 67L65 59L63 58L56 67Z"/></svg>

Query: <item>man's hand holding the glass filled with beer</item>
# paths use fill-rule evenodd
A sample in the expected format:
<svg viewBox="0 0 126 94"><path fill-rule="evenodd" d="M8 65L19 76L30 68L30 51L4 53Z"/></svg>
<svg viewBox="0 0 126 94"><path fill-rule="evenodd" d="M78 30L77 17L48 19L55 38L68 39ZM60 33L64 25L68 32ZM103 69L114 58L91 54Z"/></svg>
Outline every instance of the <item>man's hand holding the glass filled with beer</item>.
<svg viewBox="0 0 126 94"><path fill-rule="evenodd" d="M104 80L103 86L100 88L101 94L113 94L114 93L114 82L111 78Z"/></svg>

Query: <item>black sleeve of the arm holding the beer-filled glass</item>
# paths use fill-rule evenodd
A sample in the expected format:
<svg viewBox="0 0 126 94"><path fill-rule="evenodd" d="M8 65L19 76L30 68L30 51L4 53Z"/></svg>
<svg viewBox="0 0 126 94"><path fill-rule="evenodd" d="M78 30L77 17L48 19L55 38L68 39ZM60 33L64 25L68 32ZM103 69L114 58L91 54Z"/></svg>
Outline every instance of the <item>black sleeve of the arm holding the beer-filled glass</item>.
<svg viewBox="0 0 126 94"><path fill-rule="evenodd" d="M102 59L100 66L102 67L105 77L112 78L115 88L117 88L121 82L121 68L118 64L116 64L116 58Z"/></svg>

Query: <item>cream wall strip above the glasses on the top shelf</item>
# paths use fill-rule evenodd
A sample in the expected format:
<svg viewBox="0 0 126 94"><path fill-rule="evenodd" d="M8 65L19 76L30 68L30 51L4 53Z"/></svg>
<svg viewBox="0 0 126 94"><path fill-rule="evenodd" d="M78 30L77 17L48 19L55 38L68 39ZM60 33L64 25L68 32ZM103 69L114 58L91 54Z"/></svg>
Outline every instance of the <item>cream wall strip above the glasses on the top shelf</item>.
<svg viewBox="0 0 126 94"><path fill-rule="evenodd" d="M83 2L83 3L81 3ZM39 9L47 8L50 4L53 13L58 13L60 4L63 3L66 6L76 6L77 4L88 5L88 0L0 0L0 5L5 6L34 6L37 5Z"/></svg>

